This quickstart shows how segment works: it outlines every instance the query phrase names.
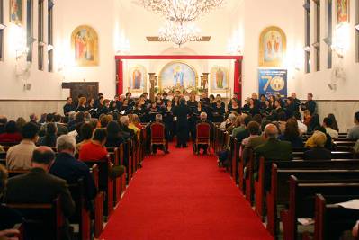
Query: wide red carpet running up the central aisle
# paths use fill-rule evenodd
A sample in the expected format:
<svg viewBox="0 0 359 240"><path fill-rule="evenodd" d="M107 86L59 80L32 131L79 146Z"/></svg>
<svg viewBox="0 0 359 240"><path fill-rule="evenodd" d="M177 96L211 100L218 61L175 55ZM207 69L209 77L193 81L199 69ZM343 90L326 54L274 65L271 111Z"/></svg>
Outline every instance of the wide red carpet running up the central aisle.
<svg viewBox="0 0 359 240"><path fill-rule="evenodd" d="M215 156L148 156L100 239L272 239Z"/></svg>

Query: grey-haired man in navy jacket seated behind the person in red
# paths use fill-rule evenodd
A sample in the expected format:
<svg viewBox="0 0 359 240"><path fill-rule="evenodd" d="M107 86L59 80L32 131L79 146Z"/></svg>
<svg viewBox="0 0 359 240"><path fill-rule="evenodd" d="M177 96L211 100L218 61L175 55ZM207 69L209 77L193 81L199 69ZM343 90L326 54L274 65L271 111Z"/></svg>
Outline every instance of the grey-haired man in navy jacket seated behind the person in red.
<svg viewBox="0 0 359 240"><path fill-rule="evenodd" d="M88 207L92 207L96 195L94 179L90 169L86 164L78 161L75 156L76 140L67 135L58 137L56 142L58 156L52 164L49 173L67 181L68 184L76 183L79 179L84 179L85 196L88 201Z"/></svg>

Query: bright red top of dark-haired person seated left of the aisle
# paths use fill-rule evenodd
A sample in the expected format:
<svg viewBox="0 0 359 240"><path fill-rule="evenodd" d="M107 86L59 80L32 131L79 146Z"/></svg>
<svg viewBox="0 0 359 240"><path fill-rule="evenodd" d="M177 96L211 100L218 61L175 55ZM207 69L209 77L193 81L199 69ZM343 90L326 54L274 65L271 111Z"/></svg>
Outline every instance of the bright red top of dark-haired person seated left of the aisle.
<svg viewBox="0 0 359 240"><path fill-rule="evenodd" d="M78 158L82 161L98 161L105 159L107 156L106 147L89 142L81 147Z"/></svg>

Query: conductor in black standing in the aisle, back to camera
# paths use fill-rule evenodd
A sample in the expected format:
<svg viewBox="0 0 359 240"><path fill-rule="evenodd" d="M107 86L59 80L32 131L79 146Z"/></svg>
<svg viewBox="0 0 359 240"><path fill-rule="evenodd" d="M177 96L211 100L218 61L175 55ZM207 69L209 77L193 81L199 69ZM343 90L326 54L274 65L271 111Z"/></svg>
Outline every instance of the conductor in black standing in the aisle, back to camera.
<svg viewBox="0 0 359 240"><path fill-rule="evenodd" d="M191 110L185 105L185 100L182 98L180 104L175 107L174 115L177 117L177 145L175 147L187 147L188 139L188 115Z"/></svg>

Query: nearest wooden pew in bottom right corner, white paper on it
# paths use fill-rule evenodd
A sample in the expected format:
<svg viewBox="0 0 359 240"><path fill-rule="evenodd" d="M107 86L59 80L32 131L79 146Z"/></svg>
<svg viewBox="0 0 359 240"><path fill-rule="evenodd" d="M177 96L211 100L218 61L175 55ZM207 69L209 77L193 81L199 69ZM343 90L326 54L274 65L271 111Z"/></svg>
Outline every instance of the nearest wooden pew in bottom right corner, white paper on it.
<svg viewBox="0 0 359 240"><path fill-rule="evenodd" d="M338 234L346 230L352 230L356 221L359 219L359 211L355 209L344 209L333 203L353 199L359 199L359 193L355 195L316 195L314 240L338 239Z"/></svg>

